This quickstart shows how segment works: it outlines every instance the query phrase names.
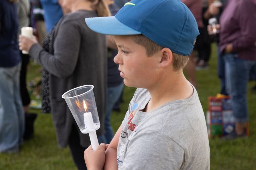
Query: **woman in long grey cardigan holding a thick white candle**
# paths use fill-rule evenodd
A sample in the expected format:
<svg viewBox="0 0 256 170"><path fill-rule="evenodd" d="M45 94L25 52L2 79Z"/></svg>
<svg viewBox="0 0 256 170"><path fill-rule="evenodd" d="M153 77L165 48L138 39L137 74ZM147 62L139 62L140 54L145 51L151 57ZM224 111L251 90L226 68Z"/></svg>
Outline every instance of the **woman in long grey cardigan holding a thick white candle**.
<svg viewBox="0 0 256 170"><path fill-rule="evenodd" d="M101 125L104 125L106 98L106 39L85 24L85 18L108 16L103 0L64 0L63 8L71 11L63 16L50 33L49 50L35 38L19 37L20 50L29 51L50 73L50 101L53 123L60 147L70 147L78 169L86 169L84 149L90 145L88 134L82 134L61 95L75 87L93 84ZM104 127L97 135L104 134Z"/></svg>

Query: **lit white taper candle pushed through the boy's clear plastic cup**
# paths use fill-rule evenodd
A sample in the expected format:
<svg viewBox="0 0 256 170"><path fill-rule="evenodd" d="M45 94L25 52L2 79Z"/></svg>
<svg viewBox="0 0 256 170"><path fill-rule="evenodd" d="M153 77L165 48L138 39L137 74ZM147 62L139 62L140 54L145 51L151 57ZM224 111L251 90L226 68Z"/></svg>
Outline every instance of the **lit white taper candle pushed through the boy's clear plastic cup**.
<svg viewBox="0 0 256 170"><path fill-rule="evenodd" d="M93 130L92 132L89 133L89 136L93 150L96 150L99 145L99 142L96 135L96 130L93 123L93 116L91 112L84 113L84 124L90 131Z"/></svg>

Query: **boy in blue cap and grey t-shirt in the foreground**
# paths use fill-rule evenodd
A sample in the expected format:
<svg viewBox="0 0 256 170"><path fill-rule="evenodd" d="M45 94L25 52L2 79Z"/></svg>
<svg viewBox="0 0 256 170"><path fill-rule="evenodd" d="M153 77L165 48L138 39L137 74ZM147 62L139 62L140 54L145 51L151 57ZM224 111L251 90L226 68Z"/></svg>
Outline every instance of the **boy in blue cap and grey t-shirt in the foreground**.
<svg viewBox="0 0 256 170"><path fill-rule="evenodd" d="M209 169L203 109L182 72L199 34L189 9L180 0L132 0L86 24L115 35L120 76L138 88L110 145L85 150L87 168Z"/></svg>

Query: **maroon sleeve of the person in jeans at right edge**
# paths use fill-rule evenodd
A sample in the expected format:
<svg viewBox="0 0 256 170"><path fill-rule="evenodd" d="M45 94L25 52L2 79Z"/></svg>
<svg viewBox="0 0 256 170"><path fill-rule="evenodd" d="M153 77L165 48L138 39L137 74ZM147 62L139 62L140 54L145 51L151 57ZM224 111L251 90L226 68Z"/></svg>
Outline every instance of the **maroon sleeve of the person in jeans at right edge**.
<svg viewBox="0 0 256 170"><path fill-rule="evenodd" d="M239 11L241 36L233 44L233 51L238 52L254 45L256 41L256 5L253 1L241 1Z"/></svg>

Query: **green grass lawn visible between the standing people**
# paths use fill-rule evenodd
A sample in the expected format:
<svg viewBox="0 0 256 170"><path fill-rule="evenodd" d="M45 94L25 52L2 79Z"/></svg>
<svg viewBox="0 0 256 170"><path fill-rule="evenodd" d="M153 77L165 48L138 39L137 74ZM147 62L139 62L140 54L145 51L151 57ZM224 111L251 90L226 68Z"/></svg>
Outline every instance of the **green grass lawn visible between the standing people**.
<svg viewBox="0 0 256 170"><path fill-rule="evenodd" d="M204 112L207 110L208 96L215 96L220 91L220 83L217 77L217 59L214 52L216 46L213 45L213 53L210 59L210 69L197 71L197 82L200 101ZM29 68L28 80L36 79L40 76L36 70L38 65L31 64ZM248 107L250 136L244 139L233 141L222 141L219 138L211 138L211 169L212 170L252 170L256 163L256 94L251 93L254 82L248 84ZM120 112L113 112L112 125L115 130L120 126L121 121L127 111L130 99L135 88L125 87ZM32 96L34 98L35 96ZM40 110L36 112L38 117L35 121L34 138L25 142L19 153L0 154L0 170L58 170L76 169L72 161L69 149L57 147L55 131L50 114L42 114Z"/></svg>

